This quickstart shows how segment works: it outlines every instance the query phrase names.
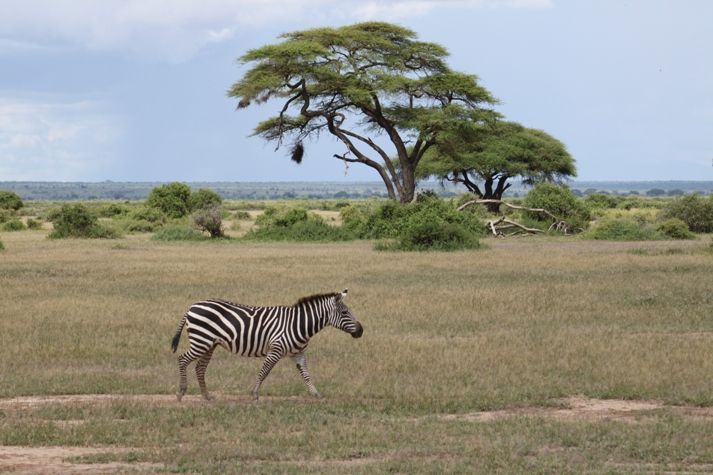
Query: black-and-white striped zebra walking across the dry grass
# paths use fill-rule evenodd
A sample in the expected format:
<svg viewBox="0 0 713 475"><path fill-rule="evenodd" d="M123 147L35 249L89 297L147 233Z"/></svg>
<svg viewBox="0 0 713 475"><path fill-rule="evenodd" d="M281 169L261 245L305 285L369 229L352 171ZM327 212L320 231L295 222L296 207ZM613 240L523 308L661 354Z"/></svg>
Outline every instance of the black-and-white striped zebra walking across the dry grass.
<svg viewBox="0 0 713 475"><path fill-rule="evenodd" d="M284 356L290 356L295 362L310 394L322 399L307 370L305 350L309 339L327 325L349 333L353 338L362 336L364 329L361 323L344 303L347 292L348 289L344 289L341 293L303 297L291 307L253 307L223 299L194 303L183 315L171 342L175 353L183 327L187 324L190 346L178 358L178 401L186 394L186 368L194 360L198 360L196 378L201 394L206 400L212 399L206 388L205 373L213 350L219 345L238 355L265 357L252 387L251 394L255 401L258 400L260 385Z"/></svg>

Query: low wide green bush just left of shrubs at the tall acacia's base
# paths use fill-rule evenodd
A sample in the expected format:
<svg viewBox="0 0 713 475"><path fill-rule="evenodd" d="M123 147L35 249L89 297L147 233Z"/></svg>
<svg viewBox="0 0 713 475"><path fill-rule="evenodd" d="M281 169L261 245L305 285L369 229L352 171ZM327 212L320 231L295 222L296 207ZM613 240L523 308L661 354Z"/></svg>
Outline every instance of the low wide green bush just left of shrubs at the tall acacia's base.
<svg viewBox="0 0 713 475"><path fill-rule="evenodd" d="M319 215L304 208L267 208L255 220L246 239L265 241L345 241L354 239L344 227L330 226Z"/></svg>

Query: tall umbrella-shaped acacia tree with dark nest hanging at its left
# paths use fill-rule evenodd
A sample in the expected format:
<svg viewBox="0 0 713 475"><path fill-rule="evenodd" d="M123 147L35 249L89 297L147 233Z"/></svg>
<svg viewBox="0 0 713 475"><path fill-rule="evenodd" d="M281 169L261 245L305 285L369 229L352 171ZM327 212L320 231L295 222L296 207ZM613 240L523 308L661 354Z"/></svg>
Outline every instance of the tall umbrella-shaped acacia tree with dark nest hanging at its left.
<svg viewBox="0 0 713 475"><path fill-rule="evenodd" d="M476 76L452 71L442 46L409 29L367 22L282 38L243 55L251 67L228 91L238 109L281 102L254 135L288 143L300 163L305 140L326 131L345 147L333 158L373 168L390 198L412 200L416 166L450 123L495 114Z"/></svg>

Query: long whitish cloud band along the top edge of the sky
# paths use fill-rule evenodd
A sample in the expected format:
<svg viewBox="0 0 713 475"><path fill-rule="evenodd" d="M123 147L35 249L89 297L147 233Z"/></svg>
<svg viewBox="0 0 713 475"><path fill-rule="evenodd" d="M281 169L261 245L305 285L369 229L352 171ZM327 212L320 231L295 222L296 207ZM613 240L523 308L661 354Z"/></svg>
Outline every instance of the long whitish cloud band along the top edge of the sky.
<svg viewBox="0 0 713 475"><path fill-rule="evenodd" d="M273 24L402 20L434 9L547 8L553 0L5 0L0 54L37 46L180 62L236 31Z"/></svg>

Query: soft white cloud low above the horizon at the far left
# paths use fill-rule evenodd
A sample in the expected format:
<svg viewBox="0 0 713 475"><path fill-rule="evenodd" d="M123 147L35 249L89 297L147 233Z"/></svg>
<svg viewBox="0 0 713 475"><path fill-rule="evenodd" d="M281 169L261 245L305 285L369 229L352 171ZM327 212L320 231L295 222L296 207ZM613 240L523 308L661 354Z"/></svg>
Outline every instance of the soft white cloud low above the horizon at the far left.
<svg viewBox="0 0 713 475"><path fill-rule="evenodd" d="M120 135L89 101L0 97L0 180L98 180Z"/></svg>

